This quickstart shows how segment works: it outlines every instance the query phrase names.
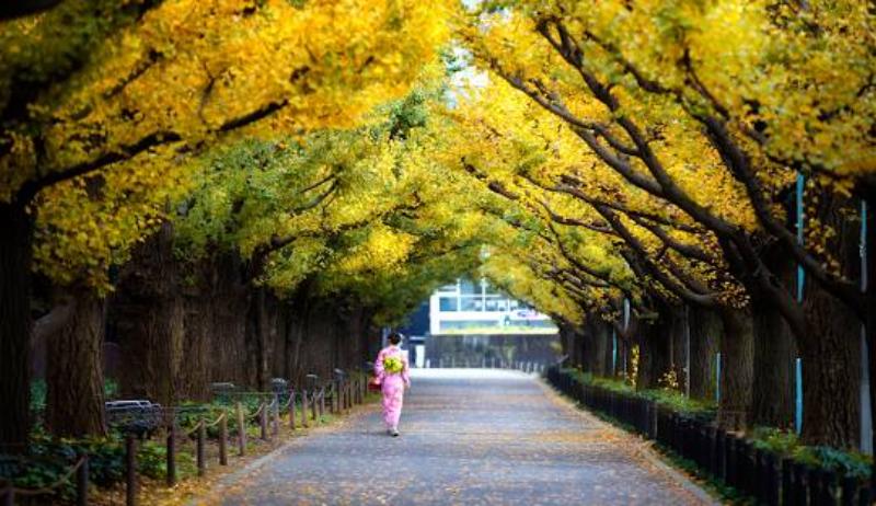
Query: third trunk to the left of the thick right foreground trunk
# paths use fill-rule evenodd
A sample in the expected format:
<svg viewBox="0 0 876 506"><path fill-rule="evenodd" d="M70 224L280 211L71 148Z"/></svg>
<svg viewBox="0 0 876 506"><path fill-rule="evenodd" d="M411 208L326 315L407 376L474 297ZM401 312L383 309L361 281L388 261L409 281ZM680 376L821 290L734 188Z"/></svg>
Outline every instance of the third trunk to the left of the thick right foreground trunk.
<svg viewBox="0 0 876 506"><path fill-rule="evenodd" d="M721 350L724 324L715 312L691 307L691 398L715 400L715 357Z"/></svg>

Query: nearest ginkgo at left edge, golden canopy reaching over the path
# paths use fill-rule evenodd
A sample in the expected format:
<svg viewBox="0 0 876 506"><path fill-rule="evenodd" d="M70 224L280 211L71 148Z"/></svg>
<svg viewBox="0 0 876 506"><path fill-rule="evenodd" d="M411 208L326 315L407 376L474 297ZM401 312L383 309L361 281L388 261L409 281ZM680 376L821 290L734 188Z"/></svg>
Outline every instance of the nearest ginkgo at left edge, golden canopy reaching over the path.
<svg viewBox="0 0 876 506"><path fill-rule="evenodd" d="M8 409L0 442L24 444L30 427L30 273L35 217L48 188L84 179L76 184L90 187L92 200L113 183L150 181L161 192L161 183L172 184L168 170L240 133L351 126L407 90L445 39L448 9L407 1L71 0L2 22L0 400ZM152 163L154 157L164 162ZM130 243L111 235L118 249ZM57 245L48 249L57 253Z"/></svg>

